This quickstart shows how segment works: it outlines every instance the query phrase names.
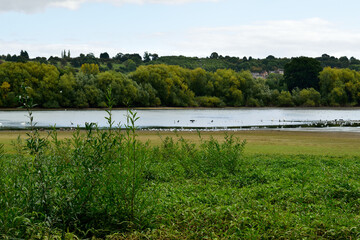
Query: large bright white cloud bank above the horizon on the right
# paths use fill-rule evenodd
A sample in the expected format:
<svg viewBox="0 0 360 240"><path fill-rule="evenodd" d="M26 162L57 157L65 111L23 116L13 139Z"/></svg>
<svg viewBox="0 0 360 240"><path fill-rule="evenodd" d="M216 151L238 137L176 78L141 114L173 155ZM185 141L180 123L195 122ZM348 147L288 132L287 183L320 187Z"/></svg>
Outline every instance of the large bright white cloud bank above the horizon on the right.
<svg viewBox="0 0 360 240"><path fill-rule="evenodd" d="M217 51L222 55L239 57L314 57L323 53L360 56L359 42L359 31L342 30L330 22L312 18L193 29L187 33L185 41L178 43L177 48L195 55L209 55Z"/></svg>

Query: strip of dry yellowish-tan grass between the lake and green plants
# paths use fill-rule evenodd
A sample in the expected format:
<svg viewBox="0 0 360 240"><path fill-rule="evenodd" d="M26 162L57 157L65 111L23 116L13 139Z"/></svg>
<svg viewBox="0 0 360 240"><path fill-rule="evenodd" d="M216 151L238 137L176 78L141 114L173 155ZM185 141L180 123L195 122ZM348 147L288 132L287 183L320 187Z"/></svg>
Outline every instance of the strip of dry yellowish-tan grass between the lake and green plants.
<svg viewBox="0 0 360 240"><path fill-rule="evenodd" d="M360 133L346 132L292 132L279 130L244 130L227 132L240 140L246 140L246 154L312 154L331 156L360 156ZM71 138L73 131L59 131L59 139ZM166 137L179 138L197 143L197 132L138 131L138 139L159 145ZM210 136L221 141L225 132L200 132L204 139ZM42 132L45 136L46 132ZM26 137L26 131L0 131L0 143L11 151L11 142Z"/></svg>

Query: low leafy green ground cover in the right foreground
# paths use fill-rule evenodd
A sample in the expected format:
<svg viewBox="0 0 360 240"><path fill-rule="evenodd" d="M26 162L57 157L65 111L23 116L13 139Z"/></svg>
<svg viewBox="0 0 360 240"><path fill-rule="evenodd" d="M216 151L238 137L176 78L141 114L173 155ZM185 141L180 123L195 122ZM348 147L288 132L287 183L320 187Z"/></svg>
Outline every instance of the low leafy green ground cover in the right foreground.
<svg viewBox="0 0 360 240"><path fill-rule="evenodd" d="M358 171L358 158L253 156L226 179L160 184L161 222L183 239L358 238Z"/></svg>

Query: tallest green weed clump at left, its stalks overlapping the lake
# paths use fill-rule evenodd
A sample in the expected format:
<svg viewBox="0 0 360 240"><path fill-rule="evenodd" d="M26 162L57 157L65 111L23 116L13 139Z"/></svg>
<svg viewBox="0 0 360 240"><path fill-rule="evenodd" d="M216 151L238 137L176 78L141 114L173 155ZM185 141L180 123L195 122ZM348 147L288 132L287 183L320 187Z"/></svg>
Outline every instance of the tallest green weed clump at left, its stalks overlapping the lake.
<svg viewBox="0 0 360 240"><path fill-rule="evenodd" d="M24 106L26 141L15 144L13 157L0 152L1 237L103 237L151 224L156 196L144 174L150 155L136 140L136 113L129 110L125 131L115 130L110 105L107 130L87 123L85 132L59 140L55 128L41 137L32 105Z"/></svg>

